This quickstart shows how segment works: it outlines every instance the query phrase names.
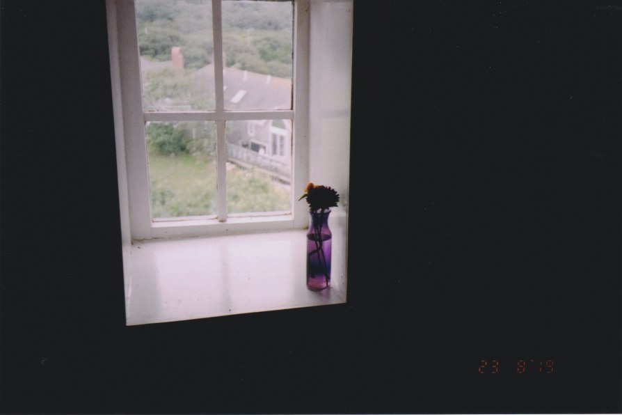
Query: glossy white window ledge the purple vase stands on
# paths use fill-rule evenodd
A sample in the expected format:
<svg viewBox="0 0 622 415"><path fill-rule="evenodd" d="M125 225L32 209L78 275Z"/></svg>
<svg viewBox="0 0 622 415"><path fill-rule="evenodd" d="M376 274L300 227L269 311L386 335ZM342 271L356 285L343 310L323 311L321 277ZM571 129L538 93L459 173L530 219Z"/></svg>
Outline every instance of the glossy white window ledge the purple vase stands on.
<svg viewBox="0 0 622 415"><path fill-rule="evenodd" d="M344 303L344 222L331 224L331 287L321 292L305 284L306 230L134 242L124 250L127 325Z"/></svg>

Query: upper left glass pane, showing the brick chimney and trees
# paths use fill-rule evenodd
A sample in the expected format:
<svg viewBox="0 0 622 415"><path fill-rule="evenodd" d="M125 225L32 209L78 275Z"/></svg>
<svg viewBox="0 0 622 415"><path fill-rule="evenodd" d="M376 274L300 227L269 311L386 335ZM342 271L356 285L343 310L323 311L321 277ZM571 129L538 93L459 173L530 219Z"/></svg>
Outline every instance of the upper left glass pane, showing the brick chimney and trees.
<svg viewBox="0 0 622 415"><path fill-rule="evenodd" d="M214 109L210 0L136 0L144 111Z"/></svg>

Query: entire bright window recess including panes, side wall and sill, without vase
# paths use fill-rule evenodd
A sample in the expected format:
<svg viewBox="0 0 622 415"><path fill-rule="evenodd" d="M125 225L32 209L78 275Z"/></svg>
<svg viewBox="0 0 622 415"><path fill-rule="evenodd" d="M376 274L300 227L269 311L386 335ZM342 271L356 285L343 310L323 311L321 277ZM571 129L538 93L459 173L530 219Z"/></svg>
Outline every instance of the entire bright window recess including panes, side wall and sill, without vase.
<svg viewBox="0 0 622 415"><path fill-rule="evenodd" d="M352 0L106 10L127 324L345 302ZM341 196L322 296L309 181Z"/></svg>

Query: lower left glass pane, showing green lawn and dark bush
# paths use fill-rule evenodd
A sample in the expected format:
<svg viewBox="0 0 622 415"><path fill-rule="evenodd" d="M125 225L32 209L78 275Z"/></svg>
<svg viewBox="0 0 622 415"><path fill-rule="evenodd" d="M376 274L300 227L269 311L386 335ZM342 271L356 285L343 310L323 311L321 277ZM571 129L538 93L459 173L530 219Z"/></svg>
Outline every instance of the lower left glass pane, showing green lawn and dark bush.
<svg viewBox="0 0 622 415"><path fill-rule="evenodd" d="M147 123L152 218L216 214L216 126Z"/></svg>

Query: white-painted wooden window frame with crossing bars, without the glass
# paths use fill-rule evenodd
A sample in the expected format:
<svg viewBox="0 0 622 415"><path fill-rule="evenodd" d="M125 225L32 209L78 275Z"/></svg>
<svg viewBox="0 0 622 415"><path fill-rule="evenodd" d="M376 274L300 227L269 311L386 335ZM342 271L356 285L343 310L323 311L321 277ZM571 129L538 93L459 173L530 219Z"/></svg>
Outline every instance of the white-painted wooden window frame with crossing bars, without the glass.
<svg viewBox="0 0 622 415"><path fill-rule="evenodd" d="M304 189L309 178L309 51L310 0L294 1L294 68L292 109L230 111L224 109L222 0L212 0L214 27L214 78L216 109L213 111L143 111L141 71L134 0L106 0L109 24L111 81L120 185L122 232L129 240L168 237L252 233L304 228L308 212L295 203L295 190ZM233 120L292 120L291 212L268 212L230 217L226 210L225 122ZM147 121L210 121L216 124L216 219L208 217L152 220L150 180L147 165L145 123Z"/></svg>

